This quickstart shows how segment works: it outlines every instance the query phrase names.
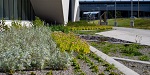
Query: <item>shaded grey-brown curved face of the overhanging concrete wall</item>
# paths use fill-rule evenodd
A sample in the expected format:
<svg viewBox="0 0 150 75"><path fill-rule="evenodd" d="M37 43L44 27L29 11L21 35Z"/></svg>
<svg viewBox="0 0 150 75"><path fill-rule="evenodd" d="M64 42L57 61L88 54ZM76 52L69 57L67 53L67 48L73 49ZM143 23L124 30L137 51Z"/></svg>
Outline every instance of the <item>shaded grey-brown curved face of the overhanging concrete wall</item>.
<svg viewBox="0 0 150 75"><path fill-rule="evenodd" d="M64 24L61 0L30 0L35 14L52 23Z"/></svg>

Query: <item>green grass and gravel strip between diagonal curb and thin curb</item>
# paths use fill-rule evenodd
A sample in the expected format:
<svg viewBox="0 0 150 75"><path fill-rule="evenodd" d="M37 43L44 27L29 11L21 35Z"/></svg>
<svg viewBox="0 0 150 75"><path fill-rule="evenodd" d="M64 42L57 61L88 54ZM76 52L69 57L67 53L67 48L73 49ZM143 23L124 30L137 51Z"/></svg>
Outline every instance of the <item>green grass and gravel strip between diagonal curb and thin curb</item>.
<svg viewBox="0 0 150 75"><path fill-rule="evenodd" d="M150 61L149 47L138 44L113 44L110 42L90 42L90 44L112 57Z"/></svg>

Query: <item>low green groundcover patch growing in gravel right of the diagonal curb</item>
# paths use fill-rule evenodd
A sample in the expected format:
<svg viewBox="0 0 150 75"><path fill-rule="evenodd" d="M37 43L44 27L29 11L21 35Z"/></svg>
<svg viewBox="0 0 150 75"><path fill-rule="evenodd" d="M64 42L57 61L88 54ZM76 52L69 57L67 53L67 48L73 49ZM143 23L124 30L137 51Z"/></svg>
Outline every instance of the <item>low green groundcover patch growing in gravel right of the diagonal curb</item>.
<svg viewBox="0 0 150 75"><path fill-rule="evenodd" d="M96 48L99 48L102 52L106 54L119 52L120 54L126 56L142 55L142 53L139 52L139 49L141 49L142 47L138 44L123 45L123 44L112 44L109 42L102 42L102 43L91 42L90 44Z"/></svg>

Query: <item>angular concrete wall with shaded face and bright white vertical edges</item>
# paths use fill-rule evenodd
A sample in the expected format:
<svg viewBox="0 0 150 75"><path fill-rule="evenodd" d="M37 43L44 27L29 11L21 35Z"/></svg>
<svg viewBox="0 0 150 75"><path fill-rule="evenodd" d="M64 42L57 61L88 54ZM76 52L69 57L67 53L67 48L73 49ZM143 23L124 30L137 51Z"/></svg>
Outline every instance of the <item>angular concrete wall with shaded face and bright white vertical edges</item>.
<svg viewBox="0 0 150 75"><path fill-rule="evenodd" d="M70 0L30 0L35 14L48 22L67 24ZM79 20L79 0L71 0L72 21Z"/></svg>

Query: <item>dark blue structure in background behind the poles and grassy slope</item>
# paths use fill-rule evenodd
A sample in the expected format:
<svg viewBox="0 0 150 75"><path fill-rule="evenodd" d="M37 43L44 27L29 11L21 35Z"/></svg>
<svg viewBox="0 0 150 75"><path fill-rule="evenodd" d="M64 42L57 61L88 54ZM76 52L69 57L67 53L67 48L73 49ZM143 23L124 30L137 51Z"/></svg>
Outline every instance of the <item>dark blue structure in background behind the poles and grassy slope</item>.
<svg viewBox="0 0 150 75"><path fill-rule="evenodd" d="M133 16L135 17L149 17L150 18L150 1L149 0L93 0L80 1L81 19L85 19L84 12L107 12L108 18L115 17L115 1L117 17L129 18L131 17L131 7L133 7ZM131 6L133 3L133 6ZM96 17L99 14L96 15ZM99 19L99 18L98 18Z"/></svg>

